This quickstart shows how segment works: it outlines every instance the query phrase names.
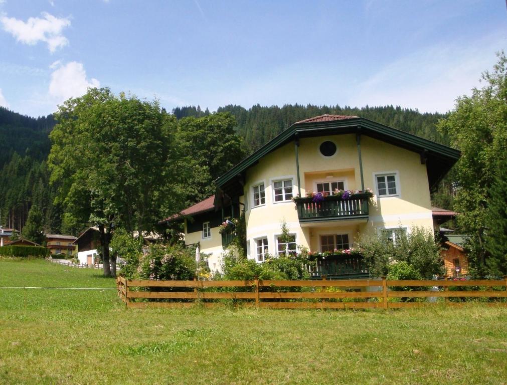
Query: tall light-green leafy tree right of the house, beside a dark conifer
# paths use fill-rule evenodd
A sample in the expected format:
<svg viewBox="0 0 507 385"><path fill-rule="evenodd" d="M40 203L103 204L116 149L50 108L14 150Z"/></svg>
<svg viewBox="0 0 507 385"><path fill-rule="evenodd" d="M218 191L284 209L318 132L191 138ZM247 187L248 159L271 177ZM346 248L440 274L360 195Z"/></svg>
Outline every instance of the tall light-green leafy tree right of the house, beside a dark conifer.
<svg viewBox="0 0 507 385"><path fill-rule="evenodd" d="M493 71L483 73L482 81L484 87L474 88L472 96L459 97L454 111L439 123L461 150L455 167L459 187L454 208L459 213L458 225L472 236L469 261L477 276L491 273L486 263L486 209L495 171L507 148L507 58L503 52Z"/></svg>

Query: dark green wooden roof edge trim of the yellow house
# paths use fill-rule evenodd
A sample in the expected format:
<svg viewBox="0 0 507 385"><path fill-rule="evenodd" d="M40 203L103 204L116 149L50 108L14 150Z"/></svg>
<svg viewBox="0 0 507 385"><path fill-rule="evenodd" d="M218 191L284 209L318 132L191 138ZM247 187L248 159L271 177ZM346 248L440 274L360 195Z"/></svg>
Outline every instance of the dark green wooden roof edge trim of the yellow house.
<svg viewBox="0 0 507 385"><path fill-rule="evenodd" d="M338 132L333 132L339 130ZM238 174L243 173L247 168L255 165L261 158L278 147L294 140L295 136L312 137L323 135L343 135L350 133L361 133L394 145L407 148L414 152L425 152L426 156L432 158L433 163L441 164L440 170L435 170L434 176L430 179L430 187L438 183L449 169L459 159L461 152L449 146L421 138L417 135L395 129L365 118L351 118L330 122L315 123L294 123L291 127L270 140L264 146L253 152L239 164L234 166L224 175L216 179L218 188L223 187ZM429 172L428 172L429 173Z"/></svg>

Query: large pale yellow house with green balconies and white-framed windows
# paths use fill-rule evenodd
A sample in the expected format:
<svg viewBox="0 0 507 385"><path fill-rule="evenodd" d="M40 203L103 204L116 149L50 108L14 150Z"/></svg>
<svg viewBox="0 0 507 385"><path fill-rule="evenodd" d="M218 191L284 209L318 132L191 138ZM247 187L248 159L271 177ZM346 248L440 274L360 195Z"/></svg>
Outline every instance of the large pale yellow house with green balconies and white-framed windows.
<svg viewBox="0 0 507 385"><path fill-rule="evenodd" d="M430 190L458 160L460 152L379 123L353 116L321 115L297 122L216 180L216 194L184 210L187 245L220 253L234 234L219 225L245 211L247 256L350 249L358 236L385 234L393 242L414 226L433 230ZM367 189L373 192L370 200ZM334 190L352 190L349 199ZM307 193L325 196L315 202ZM345 194L345 197L348 195ZM281 222L291 242L282 243ZM359 261L337 257L335 275L356 271Z"/></svg>

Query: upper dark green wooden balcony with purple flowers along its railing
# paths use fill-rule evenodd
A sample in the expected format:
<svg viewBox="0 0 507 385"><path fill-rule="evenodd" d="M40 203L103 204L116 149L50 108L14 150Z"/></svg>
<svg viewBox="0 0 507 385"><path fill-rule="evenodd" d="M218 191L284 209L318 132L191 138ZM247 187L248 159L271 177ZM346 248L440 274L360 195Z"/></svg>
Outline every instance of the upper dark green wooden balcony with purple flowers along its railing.
<svg viewBox="0 0 507 385"><path fill-rule="evenodd" d="M298 217L301 223L330 220L368 219L370 195L354 194L349 199L324 197L320 202L312 198L296 198Z"/></svg>

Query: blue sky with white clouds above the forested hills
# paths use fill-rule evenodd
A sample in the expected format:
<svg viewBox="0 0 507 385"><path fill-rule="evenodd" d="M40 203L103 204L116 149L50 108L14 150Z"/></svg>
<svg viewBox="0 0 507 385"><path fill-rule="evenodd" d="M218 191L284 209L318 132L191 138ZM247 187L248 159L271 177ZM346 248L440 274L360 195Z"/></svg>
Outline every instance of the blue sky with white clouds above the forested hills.
<svg viewBox="0 0 507 385"><path fill-rule="evenodd" d="M0 105L38 116L88 86L167 110L452 109L507 46L504 0L0 0Z"/></svg>

